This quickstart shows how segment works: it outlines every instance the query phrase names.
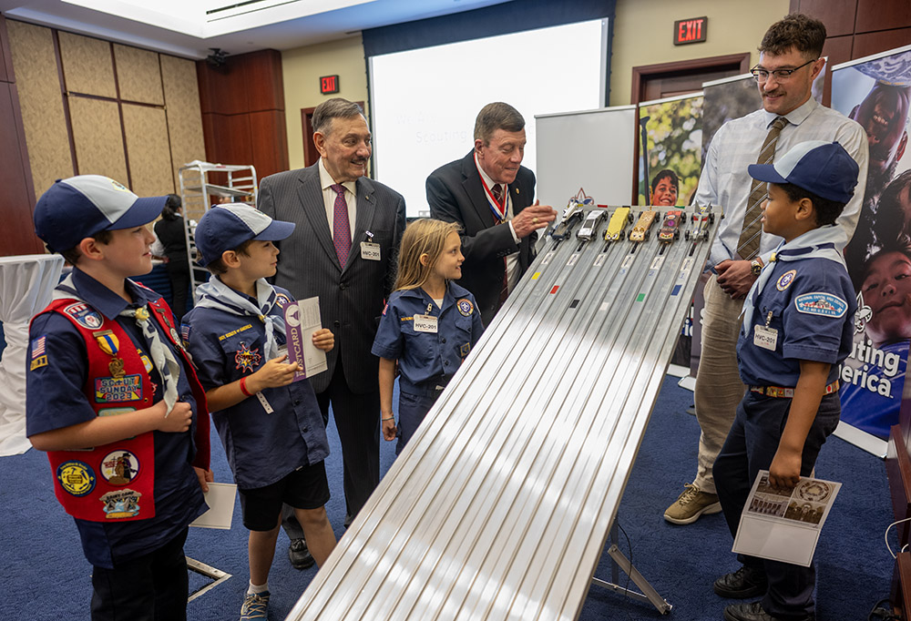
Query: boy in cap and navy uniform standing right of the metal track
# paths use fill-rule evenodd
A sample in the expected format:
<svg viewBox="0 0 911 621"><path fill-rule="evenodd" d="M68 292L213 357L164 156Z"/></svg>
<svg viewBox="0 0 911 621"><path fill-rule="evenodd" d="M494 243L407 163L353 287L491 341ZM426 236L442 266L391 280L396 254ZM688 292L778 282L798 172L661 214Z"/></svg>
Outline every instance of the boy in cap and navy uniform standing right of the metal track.
<svg viewBox="0 0 911 621"><path fill-rule="evenodd" d="M743 302L737 357L749 391L712 471L732 534L760 470L785 490L813 471L838 424L837 373L851 351L857 308L836 249L844 247L844 230L834 226L854 195L855 160L837 142L810 141L749 171L769 184L763 230L784 241ZM814 618L813 565L738 560L742 567L716 580L715 592L763 599L727 606L725 619Z"/></svg>

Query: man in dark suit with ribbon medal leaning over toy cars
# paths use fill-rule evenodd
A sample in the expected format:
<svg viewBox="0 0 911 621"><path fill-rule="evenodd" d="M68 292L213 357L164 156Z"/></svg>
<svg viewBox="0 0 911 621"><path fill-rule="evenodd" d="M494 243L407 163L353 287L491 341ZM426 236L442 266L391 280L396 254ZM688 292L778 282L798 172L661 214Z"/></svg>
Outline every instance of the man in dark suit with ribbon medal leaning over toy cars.
<svg viewBox="0 0 911 621"><path fill-rule="evenodd" d="M535 258L535 231L557 218L554 209L532 204L535 173L521 165L525 142L518 110L487 104L475 121L475 148L427 178L430 215L462 225L458 282L475 294L485 325Z"/></svg>

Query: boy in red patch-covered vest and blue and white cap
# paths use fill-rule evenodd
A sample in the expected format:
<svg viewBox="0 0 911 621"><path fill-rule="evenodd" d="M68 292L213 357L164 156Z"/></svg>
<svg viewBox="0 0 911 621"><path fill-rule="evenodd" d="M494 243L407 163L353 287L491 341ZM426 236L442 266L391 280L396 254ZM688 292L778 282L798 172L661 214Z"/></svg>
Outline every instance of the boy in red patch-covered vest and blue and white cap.
<svg viewBox="0 0 911 621"><path fill-rule="evenodd" d="M73 271L29 330L26 434L94 565L96 620L186 618L183 544L208 509L205 392L168 305L128 278L152 269L146 225L166 199L81 175L35 208Z"/></svg>

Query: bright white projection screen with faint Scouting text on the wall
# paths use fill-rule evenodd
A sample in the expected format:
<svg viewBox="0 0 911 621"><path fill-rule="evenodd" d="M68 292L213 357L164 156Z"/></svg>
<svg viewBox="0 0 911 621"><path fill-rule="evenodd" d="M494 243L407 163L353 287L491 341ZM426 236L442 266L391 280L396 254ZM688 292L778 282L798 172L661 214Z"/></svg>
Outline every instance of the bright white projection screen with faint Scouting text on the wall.
<svg viewBox="0 0 911 621"><path fill-rule="evenodd" d="M371 56L375 178L404 196L409 218L429 216L427 176L475 148L475 118L492 101L524 115L526 166L534 170L533 115L604 105L607 23L595 19ZM521 62L506 71L494 58Z"/></svg>

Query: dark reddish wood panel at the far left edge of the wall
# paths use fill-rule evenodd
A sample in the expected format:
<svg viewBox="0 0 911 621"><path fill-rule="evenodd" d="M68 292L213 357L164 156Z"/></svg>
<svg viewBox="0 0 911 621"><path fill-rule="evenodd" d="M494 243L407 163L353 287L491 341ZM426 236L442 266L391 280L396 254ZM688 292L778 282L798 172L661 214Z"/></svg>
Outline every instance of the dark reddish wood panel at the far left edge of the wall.
<svg viewBox="0 0 911 621"><path fill-rule="evenodd" d="M26 130L22 124L13 59L0 15L0 256L44 252L35 236L32 212L35 189L28 167Z"/></svg>

